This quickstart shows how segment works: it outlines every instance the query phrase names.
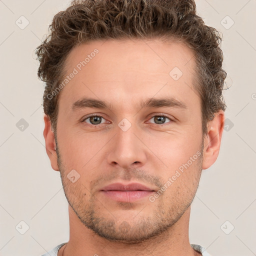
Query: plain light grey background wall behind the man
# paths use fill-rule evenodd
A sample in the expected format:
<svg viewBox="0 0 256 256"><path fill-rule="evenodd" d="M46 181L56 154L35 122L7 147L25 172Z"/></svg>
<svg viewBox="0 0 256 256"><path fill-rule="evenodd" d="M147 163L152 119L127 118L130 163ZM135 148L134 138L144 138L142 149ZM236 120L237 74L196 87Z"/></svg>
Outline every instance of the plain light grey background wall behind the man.
<svg viewBox="0 0 256 256"><path fill-rule="evenodd" d="M41 255L68 240L67 202L44 147L43 83L33 52L67 3L0 0L0 255ZM229 120L218 159L203 170L192 202L190 242L212 256L256 255L256 1L196 4L205 23L223 34L226 87L232 85L223 92ZM21 15L29 21L24 29ZM16 126L21 118L28 123L23 131ZM29 226L24 234L21 220Z"/></svg>

